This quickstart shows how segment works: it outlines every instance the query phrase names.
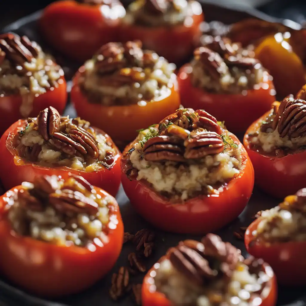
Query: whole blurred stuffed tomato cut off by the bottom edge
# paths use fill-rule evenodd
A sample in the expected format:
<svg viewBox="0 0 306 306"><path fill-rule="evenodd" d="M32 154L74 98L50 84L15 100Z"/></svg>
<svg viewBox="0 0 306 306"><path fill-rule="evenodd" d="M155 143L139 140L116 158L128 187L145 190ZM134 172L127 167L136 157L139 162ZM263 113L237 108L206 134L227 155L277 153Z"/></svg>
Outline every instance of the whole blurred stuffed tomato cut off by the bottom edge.
<svg viewBox="0 0 306 306"><path fill-rule="evenodd" d="M274 306L274 273L261 259L243 259L240 250L214 234L201 242L181 241L151 268L142 286L144 306ZM252 303L254 301L254 304Z"/></svg>

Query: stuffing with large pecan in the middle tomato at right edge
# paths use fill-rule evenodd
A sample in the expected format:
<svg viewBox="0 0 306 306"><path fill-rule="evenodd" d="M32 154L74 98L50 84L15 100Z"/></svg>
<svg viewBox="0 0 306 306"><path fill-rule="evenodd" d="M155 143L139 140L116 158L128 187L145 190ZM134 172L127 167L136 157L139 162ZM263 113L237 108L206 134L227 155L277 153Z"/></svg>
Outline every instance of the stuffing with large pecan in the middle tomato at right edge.
<svg viewBox="0 0 306 306"><path fill-rule="evenodd" d="M306 145L306 102L292 97L281 103L273 103L273 108L256 130L248 135L251 145L261 147L264 152L284 156Z"/></svg>

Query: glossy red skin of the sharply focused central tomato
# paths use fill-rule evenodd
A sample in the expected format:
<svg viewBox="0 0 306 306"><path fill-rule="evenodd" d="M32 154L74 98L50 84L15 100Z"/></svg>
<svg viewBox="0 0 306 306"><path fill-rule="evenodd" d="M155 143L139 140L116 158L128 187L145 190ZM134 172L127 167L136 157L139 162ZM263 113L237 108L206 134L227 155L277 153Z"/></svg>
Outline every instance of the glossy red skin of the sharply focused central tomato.
<svg viewBox="0 0 306 306"><path fill-rule="evenodd" d="M232 136L239 144L236 136ZM130 181L121 160L121 182L136 211L157 228L173 233L204 234L220 229L243 211L254 186L254 170L241 146L244 168L233 178L219 195L199 196L185 203L170 203L168 199L150 188L144 181Z"/></svg>

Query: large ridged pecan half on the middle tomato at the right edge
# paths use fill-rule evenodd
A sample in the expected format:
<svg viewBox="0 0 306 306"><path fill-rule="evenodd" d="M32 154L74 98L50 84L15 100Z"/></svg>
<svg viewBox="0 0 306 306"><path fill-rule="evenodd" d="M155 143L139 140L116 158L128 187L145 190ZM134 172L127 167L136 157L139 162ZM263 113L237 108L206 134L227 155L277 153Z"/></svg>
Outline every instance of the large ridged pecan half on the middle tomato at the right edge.
<svg viewBox="0 0 306 306"><path fill-rule="evenodd" d="M273 127L281 137L298 137L306 132L306 101L285 98L278 107Z"/></svg>

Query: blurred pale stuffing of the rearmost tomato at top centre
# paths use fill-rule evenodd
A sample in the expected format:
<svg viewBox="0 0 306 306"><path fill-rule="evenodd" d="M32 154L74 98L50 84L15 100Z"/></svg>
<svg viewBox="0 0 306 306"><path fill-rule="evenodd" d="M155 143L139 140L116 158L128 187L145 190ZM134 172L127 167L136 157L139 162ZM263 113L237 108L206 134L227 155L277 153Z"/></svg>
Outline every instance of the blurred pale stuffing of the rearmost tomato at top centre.
<svg viewBox="0 0 306 306"><path fill-rule="evenodd" d="M136 0L129 5L123 22L146 27L174 26L190 22L188 17L201 13L200 3L193 0Z"/></svg>

